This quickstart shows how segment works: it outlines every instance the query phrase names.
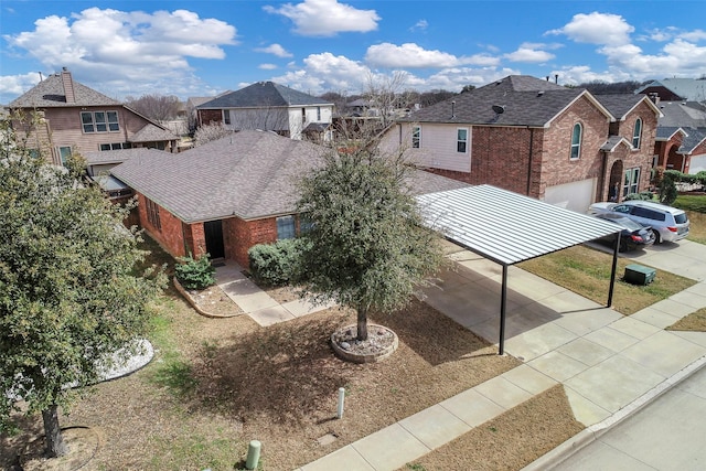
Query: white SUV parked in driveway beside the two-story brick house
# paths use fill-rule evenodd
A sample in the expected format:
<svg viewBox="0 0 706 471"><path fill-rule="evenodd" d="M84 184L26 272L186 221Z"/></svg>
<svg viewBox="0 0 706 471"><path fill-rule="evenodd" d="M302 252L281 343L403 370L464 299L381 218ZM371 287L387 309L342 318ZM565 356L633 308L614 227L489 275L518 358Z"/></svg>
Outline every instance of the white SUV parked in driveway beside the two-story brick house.
<svg viewBox="0 0 706 471"><path fill-rule="evenodd" d="M681 240L688 235L686 213L666 204L630 200L622 203L593 203L588 207L588 214L600 213L620 213L643 226L652 227L655 244Z"/></svg>

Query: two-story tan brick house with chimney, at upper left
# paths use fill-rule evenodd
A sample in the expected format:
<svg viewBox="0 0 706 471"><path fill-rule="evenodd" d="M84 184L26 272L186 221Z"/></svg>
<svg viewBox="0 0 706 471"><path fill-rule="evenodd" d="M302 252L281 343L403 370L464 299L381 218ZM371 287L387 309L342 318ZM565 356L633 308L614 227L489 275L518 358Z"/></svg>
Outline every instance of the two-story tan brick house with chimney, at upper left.
<svg viewBox="0 0 706 471"><path fill-rule="evenodd" d="M72 152L131 148L176 151L179 137L167 128L73 79L64 68L8 105L11 111L42 116L33 129L43 154L61 164ZM19 121L13 126L22 126Z"/></svg>

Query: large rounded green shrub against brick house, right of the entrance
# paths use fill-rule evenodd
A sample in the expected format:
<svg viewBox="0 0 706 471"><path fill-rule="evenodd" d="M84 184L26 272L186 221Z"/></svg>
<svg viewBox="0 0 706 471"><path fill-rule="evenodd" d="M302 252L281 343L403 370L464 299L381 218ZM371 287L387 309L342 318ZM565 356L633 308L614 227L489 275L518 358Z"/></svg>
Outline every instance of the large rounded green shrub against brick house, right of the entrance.
<svg viewBox="0 0 706 471"><path fill-rule="evenodd" d="M267 286L295 281L302 244L303 239L282 239L250 247L247 255L255 281Z"/></svg>

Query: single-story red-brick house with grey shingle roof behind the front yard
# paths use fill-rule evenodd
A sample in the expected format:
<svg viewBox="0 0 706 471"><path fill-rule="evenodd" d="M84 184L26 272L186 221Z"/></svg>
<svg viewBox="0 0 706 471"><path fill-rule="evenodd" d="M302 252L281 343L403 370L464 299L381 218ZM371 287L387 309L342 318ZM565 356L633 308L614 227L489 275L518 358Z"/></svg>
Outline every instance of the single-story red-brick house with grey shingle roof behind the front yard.
<svg viewBox="0 0 706 471"><path fill-rule="evenodd" d="M331 149L274 132L243 130L179 154L138 156L111 169L138 196L140 226L172 256L248 266L257 244L295 237L297 180ZM415 194L467 186L417 171Z"/></svg>

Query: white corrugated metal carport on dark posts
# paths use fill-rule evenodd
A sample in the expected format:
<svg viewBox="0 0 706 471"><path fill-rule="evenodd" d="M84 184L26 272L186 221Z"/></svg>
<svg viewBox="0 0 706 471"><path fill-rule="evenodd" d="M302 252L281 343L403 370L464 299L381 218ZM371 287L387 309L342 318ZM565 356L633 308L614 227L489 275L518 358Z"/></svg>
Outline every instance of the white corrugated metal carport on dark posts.
<svg viewBox="0 0 706 471"><path fill-rule="evenodd" d="M614 224L492 185L417 196L427 224L447 239L502 265L500 347L504 353L507 267L617 234ZM607 306L612 304L618 247L613 250Z"/></svg>

